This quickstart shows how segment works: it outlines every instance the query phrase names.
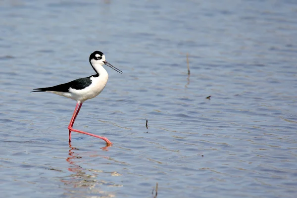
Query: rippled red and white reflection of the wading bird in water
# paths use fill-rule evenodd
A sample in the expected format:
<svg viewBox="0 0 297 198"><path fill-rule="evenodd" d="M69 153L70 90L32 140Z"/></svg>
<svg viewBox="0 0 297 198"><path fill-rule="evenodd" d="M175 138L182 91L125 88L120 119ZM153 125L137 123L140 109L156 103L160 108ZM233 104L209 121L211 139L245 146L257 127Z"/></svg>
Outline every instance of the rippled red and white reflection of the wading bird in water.
<svg viewBox="0 0 297 198"><path fill-rule="evenodd" d="M102 150L108 150L109 146L101 148ZM100 186L114 186L119 187L122 185L114 184L113 182L107 182L102 180L97 180L99 178L99 174L103 174L103 170L95 170L95 169L86 169L82 166L78 165L78 163L83 164L83 157L77 152L79 149L72 147L71 143L69 143L69 153L66 161L70 164L69 168L67 168L72 174L61 178L61 182L64 185L70 187L71 189L65 189L68 191L67 196L72 195L74 197L90 197L92 198L112 198L115 197L113 193L103 191ZM102 156L97 154L96 152L87 152L88 157L102 157L108 159L107 156ZM112 176L112 175L110 175ZM104 188L104 187L103 187ZM92 196L91 196L92 195Z"/></svg>

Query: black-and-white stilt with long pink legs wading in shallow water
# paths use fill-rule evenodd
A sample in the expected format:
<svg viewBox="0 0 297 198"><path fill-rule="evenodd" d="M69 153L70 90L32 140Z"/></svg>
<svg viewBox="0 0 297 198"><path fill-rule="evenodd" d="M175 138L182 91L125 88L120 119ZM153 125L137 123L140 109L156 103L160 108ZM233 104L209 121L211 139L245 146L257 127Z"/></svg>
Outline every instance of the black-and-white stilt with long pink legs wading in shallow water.
<svg viewBox="0 0 297 198"><path fill-rule="evenodd" d="M101 137L98 135L94 135L91 133L87 133L84 131L80 131L77 129L73 129L74 121L83 105L83 103L88 99L93 99L97 97L102 90L104 89L107 80L108 80L108 73L104 69L103 65L107 65L108 67L112 68L113 70L119 72L120 74L123 73L121 70L117 69L109 62L106 61L105 55L101 51L94 51L91 53L89 62L93 67L96 74L86 77L86 78L79 78L73 80L68 83L56 85L53 87L44 87L44 88L37 88L33 89L36 91L32 92L49 92L59 96L63 96L69 99L76 100L76 106L68 125L69 130L69 143L71 142L71 132L78 132L82 134L86 134L89 136L94 136L96 138L100 138L106 142L107 145L111 145L112 143L105 137Z"/></svg>

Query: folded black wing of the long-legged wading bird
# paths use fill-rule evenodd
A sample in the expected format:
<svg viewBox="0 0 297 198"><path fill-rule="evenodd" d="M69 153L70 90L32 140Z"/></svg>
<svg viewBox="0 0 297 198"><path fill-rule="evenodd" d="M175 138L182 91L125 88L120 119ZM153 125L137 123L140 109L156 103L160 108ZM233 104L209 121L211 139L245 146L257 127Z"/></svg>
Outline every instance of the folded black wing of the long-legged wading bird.
<svg viewBox="0 0 297 198"><path fill-rule="evenodd" d="M92 76L90 76L92 77ZM33 90L37 91L32 91L32 92L46 92L46 91L53 91L53 92L69 92L69 89L76 89L76 90L82 90L85 89L86 87L89 87L92 84L92 80L90 77L87 78L79 78L74 81L71 81L69 83L64 83L61 85L56 85L53 87L44 87L44 88L37 88Z"/></svg>

